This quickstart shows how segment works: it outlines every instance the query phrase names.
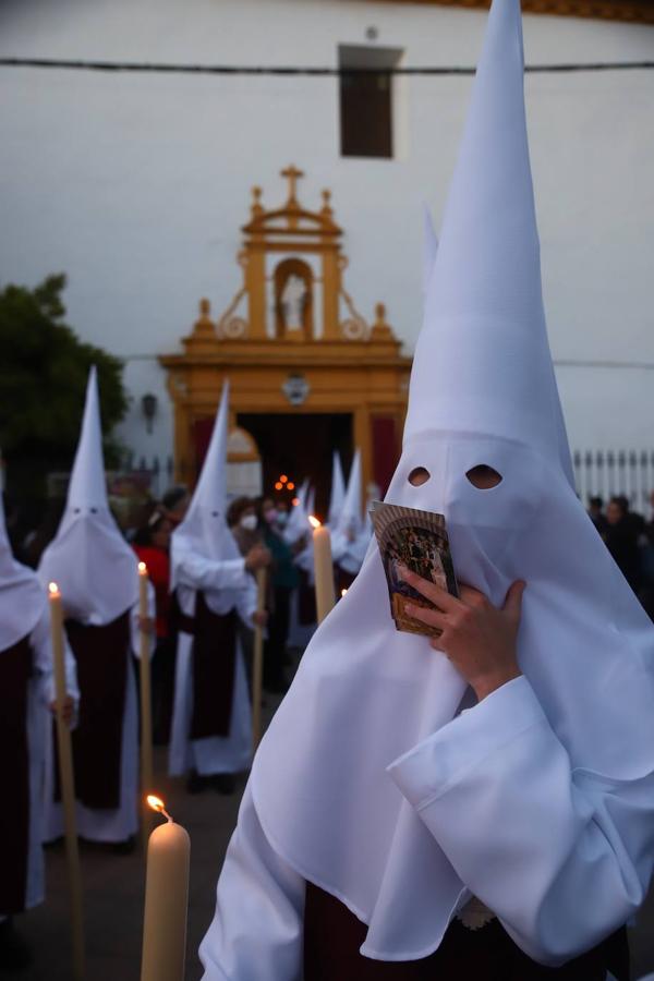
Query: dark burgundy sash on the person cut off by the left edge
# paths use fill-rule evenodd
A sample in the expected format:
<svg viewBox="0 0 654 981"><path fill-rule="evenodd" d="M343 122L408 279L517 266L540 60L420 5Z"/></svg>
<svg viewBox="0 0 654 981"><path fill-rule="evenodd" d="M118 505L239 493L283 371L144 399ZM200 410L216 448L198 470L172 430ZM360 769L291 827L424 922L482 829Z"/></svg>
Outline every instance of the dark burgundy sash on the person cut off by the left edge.
<svg viewBox="0 0 654 981"><path fill-rule="evenodd" d="M28 638L0 653L0 916L25 909L29 853ZM45 711L45 710L44 710Z"/></svg>

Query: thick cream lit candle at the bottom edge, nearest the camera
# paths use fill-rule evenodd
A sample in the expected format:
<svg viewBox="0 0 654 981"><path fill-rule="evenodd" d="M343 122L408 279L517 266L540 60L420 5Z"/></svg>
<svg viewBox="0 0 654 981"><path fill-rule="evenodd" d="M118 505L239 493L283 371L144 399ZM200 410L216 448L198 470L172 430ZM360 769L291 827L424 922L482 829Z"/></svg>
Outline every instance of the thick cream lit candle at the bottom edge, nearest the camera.
<svg viewBox="0 0 654 981"><path fill-rule="evenodd" d="M168 820L147 846L141 981L183 981L191 839L152 795L147 802Z"/></svg>

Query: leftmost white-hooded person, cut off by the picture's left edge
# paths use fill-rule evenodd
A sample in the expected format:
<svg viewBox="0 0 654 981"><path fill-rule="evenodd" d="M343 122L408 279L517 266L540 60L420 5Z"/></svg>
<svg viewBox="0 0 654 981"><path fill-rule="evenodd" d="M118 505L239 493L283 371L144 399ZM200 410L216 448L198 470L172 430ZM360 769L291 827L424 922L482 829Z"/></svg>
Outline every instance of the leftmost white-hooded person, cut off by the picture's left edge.
<svg viewBox="0 0 654 981"><path fill-rule="evenodd" d="M65 653L65 714L72 719L78 692L75 664ZM11 918L44 901L44 765L53 703L47 593L12 555L0 497L0 969L27 962Z"/></svg>

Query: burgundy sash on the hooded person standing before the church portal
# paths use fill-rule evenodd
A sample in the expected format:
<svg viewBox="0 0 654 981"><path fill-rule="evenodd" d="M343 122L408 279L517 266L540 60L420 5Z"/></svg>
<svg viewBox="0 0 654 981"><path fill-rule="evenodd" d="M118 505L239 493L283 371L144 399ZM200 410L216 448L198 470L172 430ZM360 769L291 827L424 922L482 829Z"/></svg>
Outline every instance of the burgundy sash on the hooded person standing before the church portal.
<svg viewBox="0 0 654 981"><path fill-rule="evenodd" d="M215 614L204 593L195 597L192 623L180 628L193 633L193 716L191 739L229 736L237 669L237 613Z"/></svg>

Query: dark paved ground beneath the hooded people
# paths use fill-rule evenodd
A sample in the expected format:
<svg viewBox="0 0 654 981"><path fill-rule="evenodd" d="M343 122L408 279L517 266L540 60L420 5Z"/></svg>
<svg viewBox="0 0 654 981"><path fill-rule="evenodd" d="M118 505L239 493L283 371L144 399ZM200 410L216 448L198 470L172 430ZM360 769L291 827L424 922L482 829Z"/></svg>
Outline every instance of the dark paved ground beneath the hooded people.
<svg viewBox="0 0 654 981"><path fill-rule="evenodd" d="M272 705L269 706L270 712ZM198 981L197 946L214 912L216 879L235 824L243 783L234 797L215 791L185 792L182 780L164 776L166 756L157 751L158 787L168 809L191 835L191 888L186 981ZM144 860L138 845L132 855L86 846L84 875L87 981L138 981L143 917ZM46 903L19 921L31 941L35 961L22 981L70 981L68 896L62 847L47 850ZM631 931L633 978L654 971L654 892ZM0 972L0 977L9 977ZM238 981L238 979L235 979Z"/></svg>

